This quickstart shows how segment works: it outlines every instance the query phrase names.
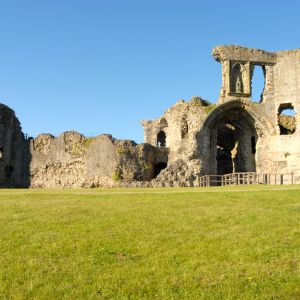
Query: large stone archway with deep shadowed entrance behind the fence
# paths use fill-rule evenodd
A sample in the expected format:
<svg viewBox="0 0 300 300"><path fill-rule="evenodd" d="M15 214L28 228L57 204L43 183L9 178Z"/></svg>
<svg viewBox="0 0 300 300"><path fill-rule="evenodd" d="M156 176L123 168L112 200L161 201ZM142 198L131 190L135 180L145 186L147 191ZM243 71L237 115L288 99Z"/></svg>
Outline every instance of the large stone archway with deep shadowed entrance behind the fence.
<svg viewBox="0 0 300 300"><path fill-rule="evenodd" d="M205 120L197 139L201 173L254 172L259 159L254 143L276 134L267 116L251 103L229 101L216 107Z"/></svg>

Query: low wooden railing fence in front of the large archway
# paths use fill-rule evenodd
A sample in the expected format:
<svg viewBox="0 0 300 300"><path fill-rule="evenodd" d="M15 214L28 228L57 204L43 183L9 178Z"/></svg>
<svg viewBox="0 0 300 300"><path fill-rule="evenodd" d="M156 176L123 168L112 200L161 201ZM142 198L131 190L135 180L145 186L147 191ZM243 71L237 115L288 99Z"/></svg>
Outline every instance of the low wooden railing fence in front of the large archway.
<svg viewBox="0 0 300 300"><path fill-rule="evenodd" d="M240 172L225 175L204 175L199 178L201 187L252 184L294 184L294 174L257 174Z"/></svg>

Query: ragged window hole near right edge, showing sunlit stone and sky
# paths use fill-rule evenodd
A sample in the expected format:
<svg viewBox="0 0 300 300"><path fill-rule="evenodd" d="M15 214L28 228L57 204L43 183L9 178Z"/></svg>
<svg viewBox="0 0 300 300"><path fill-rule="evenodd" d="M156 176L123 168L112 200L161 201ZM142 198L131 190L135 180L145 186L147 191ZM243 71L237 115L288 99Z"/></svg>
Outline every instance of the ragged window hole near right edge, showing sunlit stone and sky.
<svg viewBox="0 0 300 300"><path fill-rule="evenodd" d="M293 134L296 131L296 111L291 103L279 105L278 126L281 135Z"/></svg>

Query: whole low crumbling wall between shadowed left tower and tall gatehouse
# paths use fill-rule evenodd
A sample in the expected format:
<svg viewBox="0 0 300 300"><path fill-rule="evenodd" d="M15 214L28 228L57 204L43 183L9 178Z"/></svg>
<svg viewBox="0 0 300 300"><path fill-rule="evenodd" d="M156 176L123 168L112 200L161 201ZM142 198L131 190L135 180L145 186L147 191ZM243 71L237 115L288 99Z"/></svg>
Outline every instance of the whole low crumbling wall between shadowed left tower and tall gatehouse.
<svg viewBox="0 0 300 300"><path fill-rule="evenodd" d="M151 145L116 140L110 135L86 138L74 131L55 138L41 134L30 143L31 187L113 187L153 178L165 151Z"/></svg>

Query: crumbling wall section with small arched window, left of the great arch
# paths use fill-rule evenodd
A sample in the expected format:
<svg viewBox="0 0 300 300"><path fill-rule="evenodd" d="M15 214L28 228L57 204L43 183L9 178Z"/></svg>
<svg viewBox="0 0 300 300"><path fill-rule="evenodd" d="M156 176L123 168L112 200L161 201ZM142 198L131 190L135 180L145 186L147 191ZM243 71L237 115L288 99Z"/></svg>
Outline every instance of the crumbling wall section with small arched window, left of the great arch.
<svg viewBox="0 0 300 300"><path fill-rule="evenodd" d="M158 145L158 134L166 134L165 147L169 149L168 166L155 180L154 186L193 186L201 173L201 161L197 133L208 113L215 105L193 97L190 101L179 100L160 118L142 121L145 142Z"/></svg>

